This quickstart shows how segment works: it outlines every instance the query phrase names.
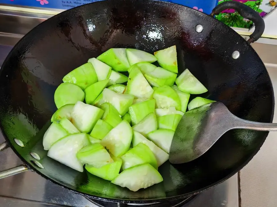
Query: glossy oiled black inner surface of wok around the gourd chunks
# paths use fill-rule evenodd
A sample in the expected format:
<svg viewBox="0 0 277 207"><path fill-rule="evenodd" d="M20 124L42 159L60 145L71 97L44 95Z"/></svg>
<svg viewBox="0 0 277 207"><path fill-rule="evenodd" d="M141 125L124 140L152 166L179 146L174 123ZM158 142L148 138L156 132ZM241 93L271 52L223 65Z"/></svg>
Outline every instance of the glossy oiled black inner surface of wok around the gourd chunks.
<svg viewBox="0 0 277 207"><path fill-rule="evenodd" d="M195 31L201 24L202 33ZM232 29L184 6L156 1L103 1L50 18L12 50L0 76L0 121L12 148L44 177L91 197L149 202L188 196L229 178L259 150L268 132L233 130L193 162L159 167L164 181L131 192L92 174L77 172L46 156L42 137L56 110L54 91L74 68L109 48L153 53L176 45L179 74L189 70L235 115L271 122L273 89L254 50ZM233 51L240 52L232 59ZM191 95L191 99L195 95ZM21 148L14 138L23 141ZM35 166L36 152L44 169Z"/></svg>

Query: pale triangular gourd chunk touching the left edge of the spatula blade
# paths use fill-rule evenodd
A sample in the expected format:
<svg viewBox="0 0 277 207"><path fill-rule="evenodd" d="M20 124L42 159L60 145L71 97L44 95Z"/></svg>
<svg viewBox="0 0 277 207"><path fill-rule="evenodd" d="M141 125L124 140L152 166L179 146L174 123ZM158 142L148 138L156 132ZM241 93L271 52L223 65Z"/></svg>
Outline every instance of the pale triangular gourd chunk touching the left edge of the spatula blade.
<svg viewBox="0 0 277 207"><path fill-rule="evenodd" d="M170 129L158 129L150 132L147 138L154 142L163 151L169 153L174 131Z"/></svg>

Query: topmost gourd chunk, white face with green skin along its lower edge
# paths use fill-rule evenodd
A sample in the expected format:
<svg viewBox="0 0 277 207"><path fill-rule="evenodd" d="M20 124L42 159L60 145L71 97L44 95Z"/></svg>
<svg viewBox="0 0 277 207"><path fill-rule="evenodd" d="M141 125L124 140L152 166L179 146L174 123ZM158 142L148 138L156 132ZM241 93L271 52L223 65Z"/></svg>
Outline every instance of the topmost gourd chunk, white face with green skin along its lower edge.
<svg viewBox="0 0 277 207"><path fill-rule="evenodd" d="M154 52L154 55L158 59L161 67L168 71L178 73L176 45Z"/></svg>

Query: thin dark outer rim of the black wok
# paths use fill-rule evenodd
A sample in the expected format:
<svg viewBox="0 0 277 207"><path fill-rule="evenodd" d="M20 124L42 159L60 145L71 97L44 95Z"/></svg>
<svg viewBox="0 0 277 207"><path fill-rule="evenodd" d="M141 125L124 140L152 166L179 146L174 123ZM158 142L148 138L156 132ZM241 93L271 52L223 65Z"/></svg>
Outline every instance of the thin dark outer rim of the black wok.
<svg viewBox="0 0 277 207"><path fill-rule="evenodd" d="M14 49L18 46L18 44L21 43L22 40L24 40L24 38L26 38L26 36L28 36L33 30L35 30L37 27L39 27L41 24L43 24L44 22L46 21L51 21L50 19L53 19L53 18L58 18L59 15L62 15L63 13L66 13L70 10L74 10L76 8L80 8L80 7L86 7L87 5L90 5L90 4L94 4L94 3L101 3L101 2L113 2L115 0L102 0L102 1L98 1L98 2L92 2L92 3L89 3L89 4L86 4L86 5L81 5L81 6L77 6L77 7L74 7L74 8L71 8L69 10L65 10L61 13L58 13L57 15L54 15L53 17L50 17L49 19L46 19L45 21L43 21L42 23L38 24L37 26L35 26L33 29L31 29L28 33L26 33L26 35L24 35L15 45L14 47L11 49L11 51L9 52L9 54L7 55L6 59L4 60L2 66L1 66L1 69L0 70L0 76L2 74L2 71L3 69L5 68L5 65L6 65L6 62L8 62L8 59L10 59L10 56L11 54L13 53ZM122 1L137 1L137 0L122 0ZM160 1L160 0L150 0L150 1L153 1L153 2L160 2L160 3L163 3L163 4L177 4L177 3L173 3L173 2L163 2L163 1ZM181 4L177 4L179 6L183 6ZM187 9L189 10L194 10L195 12L198 12L198 13L201 13L201 15L206 15L208 16L208 18L212 18L213 20L216 21L217 24L221 24L222 27L225 27L227 29L226 32L233 32L235 34L235 38L241 38L243 41L247 42L242 36L240 36L237 32L235 32L233 29L231 29L231 27L225 25L224 23L222 23L221 21L215 19L214 17L211 17L210 15L206 14L206 13L203 13L203 12L200 12L198 10L195 10L195 9L192 9L190 7L187 7L187 6L183 6L183 7L186 7ZM251 47L251 45L249 44L250 48L252 49L252 52L256 53L256 51ZM256 55L259 57L259 55L256 53ZM262 61L260 59L260 61ZM263 62L262 62L263 63ZM263 64L264 66L264 64ZM273 85L272 85L272 81L270 79L270 76L267 72L267 69L266 67L264 66L264 70L265 72L267 73L267 76L269 77L269 80L270 80L270 88L271 88L271 91L272 91L272 112L271 112L271 118L270 118L270 123L272 123L273 121L273 117L274 117L274 110L275 110L275 98L274 98L274 89L273 89ZM58 185L58 186L61 186L62 188L65 188L67 190L70 190L71 192L74 192L76 194L79 194L79 195L82 195L84 197L88 197L90 199L95 199L95 200L101 200L101 201L107 201L107 202L117 202L117 203L136 203L136 204L139 204L139 203L155 203L155 202L165 202L165 201L171 201L171 200L177 200L177 199L183 199L183 198L186 198L186 197L190 197L190 196L193 196L193 195L196 195L196 194L199 194L205 190L208 190L224 181L226 181L227 179L231 178L233 175L235 175L236 173L238 173L243 167L245 167L247 165L247 163L250 162L251 159L253 159L253 157L257 154L257 152L260 150L260 148L262 147L264 141L266 140L269 132L265 132L265 135L263 136L263 140L261 140L261 143L259 144L259 147L251 154L251 156L242 164L240 165L240 167L238 167L233 173L227 175L226 177L220 179L219 181L217 182L214 182L213 184L209 185L209 186L206 186L204 188L201 188L199 190L195 190L195 191L192 191L190 193L186 193L186 194L182 194L182 195L176 195L176 196L171 196L171 197L165 197L165 198L156 198L156 199L140 199L140 200L126 200L126 199L114 199L114 198L107 198L107 197L102 197L102 196L94 196L94 195L91 195L91 194L88 194L88 193L83 193L81 191L78 191L78 190L74 190L70 187L67 187L55 180L53 180L52 178L49 178L47 177L46 175L44 175L43 173L41 173L39 170L37 170L36 167L34 167L32 164L28 163L19 153L18 151L15 149L15 147L13 146L13 144L11 143L11 141L7 138L6 136L6 133L4 132L3 130L3 126L2 126L2 123L0 122L0 132L2 133L2 135L4 136L6 142L9 144L9 147L14 151L14 153L22 160L23 164L25 164L29 171L33 171L37 174L39 174L40 176L42 176L43 178L45 178L46 180ZM1 156L1 155L0 155Z"/></svg>

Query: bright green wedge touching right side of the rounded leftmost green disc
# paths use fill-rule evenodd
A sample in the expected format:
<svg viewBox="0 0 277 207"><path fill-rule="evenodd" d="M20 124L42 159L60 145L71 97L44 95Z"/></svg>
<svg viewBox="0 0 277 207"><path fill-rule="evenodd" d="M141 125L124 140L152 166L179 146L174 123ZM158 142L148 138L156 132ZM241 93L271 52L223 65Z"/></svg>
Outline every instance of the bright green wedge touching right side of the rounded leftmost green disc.
<svg viewBox="0 0 277 207"><path fill-rule="evenodd" d="M102 80L88 86L85 89L85 101L87 104L93 104L95 99L102 93L104 88L108 85L110 79Z"/></svg>

